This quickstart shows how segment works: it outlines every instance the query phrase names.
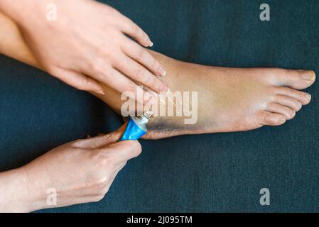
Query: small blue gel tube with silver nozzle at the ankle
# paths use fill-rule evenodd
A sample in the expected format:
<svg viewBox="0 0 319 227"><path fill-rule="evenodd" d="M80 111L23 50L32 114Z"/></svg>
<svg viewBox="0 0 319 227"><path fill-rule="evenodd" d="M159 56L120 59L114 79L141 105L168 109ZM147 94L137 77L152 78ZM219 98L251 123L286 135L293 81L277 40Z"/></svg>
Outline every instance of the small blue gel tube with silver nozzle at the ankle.
<svg viewBox="0 0 319 227"><path fill-rule="evenodd" d="M153 116L152 111L146 111L142 116L130 116L121 140L138 140L147 133L146 123Z"/></svg>

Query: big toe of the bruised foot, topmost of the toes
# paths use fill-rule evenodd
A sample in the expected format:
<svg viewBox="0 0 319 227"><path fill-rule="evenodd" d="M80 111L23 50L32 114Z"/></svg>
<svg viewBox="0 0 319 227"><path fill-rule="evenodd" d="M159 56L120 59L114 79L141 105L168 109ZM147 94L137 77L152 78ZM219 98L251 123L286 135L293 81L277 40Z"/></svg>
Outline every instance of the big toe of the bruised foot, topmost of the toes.
<svg viewBox="0 0 319 227"><path fill-rule="evenodd" d="M315 72L312 70L274 70L274 80L277 86L306 89L315 82Z"/></svg>

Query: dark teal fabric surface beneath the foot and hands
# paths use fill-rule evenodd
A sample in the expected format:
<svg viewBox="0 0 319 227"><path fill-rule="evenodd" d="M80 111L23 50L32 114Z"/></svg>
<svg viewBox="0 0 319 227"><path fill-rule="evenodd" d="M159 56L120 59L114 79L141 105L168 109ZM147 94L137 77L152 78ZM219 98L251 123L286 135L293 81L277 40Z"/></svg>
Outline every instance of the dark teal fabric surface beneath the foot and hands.
<svg viewBox="0 0 319 227"><path fill-rule="evenodd" d="M154 50L225 67L319 72L319 2L271 1L271 21L253 0L104 1L136 21ZM19 167L87 134L113 131L119 116L85 92L0 57L0 170ZM291 121L243 133L141 141L98 203L45 211L319 211L318 84ZM269 188L271 205L259 204Z"/></svg>

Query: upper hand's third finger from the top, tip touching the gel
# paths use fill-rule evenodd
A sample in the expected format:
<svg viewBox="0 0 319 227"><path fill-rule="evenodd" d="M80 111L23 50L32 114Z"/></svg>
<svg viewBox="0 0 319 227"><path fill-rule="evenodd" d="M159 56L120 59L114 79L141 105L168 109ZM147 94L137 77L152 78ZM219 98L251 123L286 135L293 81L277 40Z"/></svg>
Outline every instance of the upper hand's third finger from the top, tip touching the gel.
<svg viewBox="0 0 319 227"><path fill-rule="evenodd" d="M120 64L115 64L114 67L121 70L127 77L130 77L136 82L146 85L154 92L166 92L168 87L161 79L158 79L151 72L146 70L145 67L139 65L138 62L132 60L130 57L127 57L124 54L121 54L118 57Z"/></svg>

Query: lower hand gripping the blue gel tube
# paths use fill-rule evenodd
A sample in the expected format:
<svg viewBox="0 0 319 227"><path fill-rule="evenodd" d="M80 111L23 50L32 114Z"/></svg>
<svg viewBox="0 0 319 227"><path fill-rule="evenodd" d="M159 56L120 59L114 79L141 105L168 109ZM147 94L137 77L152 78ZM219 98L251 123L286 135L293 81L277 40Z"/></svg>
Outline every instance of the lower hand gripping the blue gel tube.
<svg viewBox="0 0 319 227"><path fill-rule="evenodd" d="M0 211L34 211L99 201L127 160L141 153L138 141L117 142L120 136L117 131L76 140L50 150L24 167L1 173ZM8 188L10 184L13 189ZM1 185L6 185L6 189L1 190ZM48 189L56 191L54 206L47 204Z"/></svg>

